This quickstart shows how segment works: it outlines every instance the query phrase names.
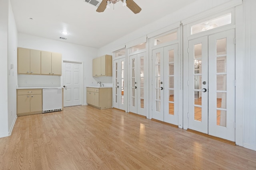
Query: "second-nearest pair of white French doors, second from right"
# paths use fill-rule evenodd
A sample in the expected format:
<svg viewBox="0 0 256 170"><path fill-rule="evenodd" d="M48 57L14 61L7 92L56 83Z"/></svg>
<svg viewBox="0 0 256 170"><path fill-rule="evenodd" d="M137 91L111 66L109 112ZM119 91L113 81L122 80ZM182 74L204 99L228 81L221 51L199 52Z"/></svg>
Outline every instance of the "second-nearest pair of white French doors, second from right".
<svg viewBox="0 0 256 170"><path fill-rule="evenodd" d="M178 44L152 55L152 118L178 125Z"/></svg>

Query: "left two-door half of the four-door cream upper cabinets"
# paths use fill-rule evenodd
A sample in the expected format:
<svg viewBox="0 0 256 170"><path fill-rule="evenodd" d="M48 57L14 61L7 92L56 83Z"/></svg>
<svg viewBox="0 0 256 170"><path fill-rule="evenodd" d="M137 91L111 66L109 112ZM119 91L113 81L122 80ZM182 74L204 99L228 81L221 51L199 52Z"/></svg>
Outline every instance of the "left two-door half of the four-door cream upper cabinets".
<svg viewBox="0 0 256 170"><path fill-rule="evenodd" d="M41 74L41 51L18 48L18 74Z"/></svg>

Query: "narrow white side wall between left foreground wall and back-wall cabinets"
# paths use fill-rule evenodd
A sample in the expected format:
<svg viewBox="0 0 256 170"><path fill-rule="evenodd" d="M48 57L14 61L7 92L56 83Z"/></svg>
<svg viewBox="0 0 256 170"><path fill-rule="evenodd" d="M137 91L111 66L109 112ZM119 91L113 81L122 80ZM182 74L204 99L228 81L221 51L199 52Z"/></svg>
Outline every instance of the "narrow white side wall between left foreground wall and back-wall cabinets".
<svg viewBox="0 0 256 170"><path fill-rule="evenodd" d="M8 134L11 135L16 120L16 85L17 85L17 44L18 31L9 0L8 18ZM13 68L11 69L11 64Z"/></svg>

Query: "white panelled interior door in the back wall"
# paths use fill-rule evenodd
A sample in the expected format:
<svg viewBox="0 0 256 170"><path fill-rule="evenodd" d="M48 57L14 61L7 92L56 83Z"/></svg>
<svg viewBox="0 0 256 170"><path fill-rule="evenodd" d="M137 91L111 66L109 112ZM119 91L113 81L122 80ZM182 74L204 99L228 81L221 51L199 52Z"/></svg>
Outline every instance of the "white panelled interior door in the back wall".
<svg viewBox="0 0 256 170"><path fill-rule="evenodd" d="M64 107L81 105L82 64L63 63Z"/></svg>

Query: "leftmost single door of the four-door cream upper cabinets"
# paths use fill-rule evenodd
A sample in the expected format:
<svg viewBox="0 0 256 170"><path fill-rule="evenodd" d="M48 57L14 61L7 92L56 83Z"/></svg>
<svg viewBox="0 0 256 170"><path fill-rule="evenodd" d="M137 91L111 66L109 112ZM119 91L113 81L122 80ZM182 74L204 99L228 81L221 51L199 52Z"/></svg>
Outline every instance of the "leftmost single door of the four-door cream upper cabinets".
<svg viewBox="0 0 256 170"><path fill-rule="evenodd" d="M18 48L18 74L30 73L30 49Z"/></svg>

